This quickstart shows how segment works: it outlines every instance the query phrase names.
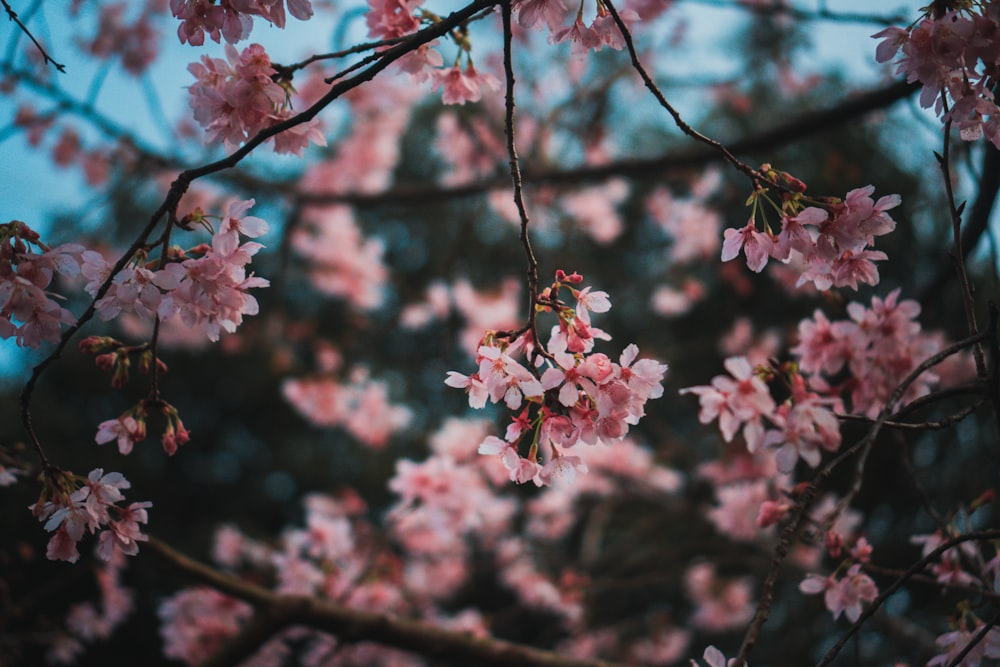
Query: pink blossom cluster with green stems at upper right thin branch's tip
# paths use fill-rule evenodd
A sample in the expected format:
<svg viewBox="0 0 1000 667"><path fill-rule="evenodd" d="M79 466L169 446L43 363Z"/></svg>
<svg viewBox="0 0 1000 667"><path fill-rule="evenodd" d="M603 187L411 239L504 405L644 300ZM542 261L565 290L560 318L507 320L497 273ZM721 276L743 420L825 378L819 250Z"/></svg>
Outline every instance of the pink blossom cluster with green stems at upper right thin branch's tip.
<svg viewBox="0 0 1000 667"><path fill-rule="evenodd" d="M801 181L765 166L764 171L779 177L793 188L802 190ZM747 266L760 272L769 258L793 263L800 268L798 285L815 284L817 289L850 287L859 283L875 285L879 281L874 262L886 259L884 252L870 250L876 236L888 234L896 222L886 213L900 203L899 195L872 199L874 186L856 188L841 200L823 202L823 208L804 207L801 193L787 195L781 210L781 231L775 234L765 222L764 231L757 229L756 215L739 229L723 233L722 261L735 259L740 252ZM764 191L751 197L756 203ZM818 203L818 202L817 202Z"/></svg>

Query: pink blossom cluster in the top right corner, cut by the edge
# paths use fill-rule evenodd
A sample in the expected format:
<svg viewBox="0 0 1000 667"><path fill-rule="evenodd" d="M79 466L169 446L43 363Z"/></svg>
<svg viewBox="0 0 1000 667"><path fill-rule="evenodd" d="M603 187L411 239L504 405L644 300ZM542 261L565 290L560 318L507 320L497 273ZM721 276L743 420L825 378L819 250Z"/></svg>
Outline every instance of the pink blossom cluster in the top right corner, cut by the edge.
<svg viewBox="0 0 1000 667"><path fill-rule="evenodd" d="M921 106L933 105L966 141L985 135L1000 147L1000 109L993 94L1000 66L1000 6L985 3L978 12L963 8L928 16L911 28L886 28L872 35L882 40L875 57L884 63L902 52L896 71L923 85Z"/></svg>

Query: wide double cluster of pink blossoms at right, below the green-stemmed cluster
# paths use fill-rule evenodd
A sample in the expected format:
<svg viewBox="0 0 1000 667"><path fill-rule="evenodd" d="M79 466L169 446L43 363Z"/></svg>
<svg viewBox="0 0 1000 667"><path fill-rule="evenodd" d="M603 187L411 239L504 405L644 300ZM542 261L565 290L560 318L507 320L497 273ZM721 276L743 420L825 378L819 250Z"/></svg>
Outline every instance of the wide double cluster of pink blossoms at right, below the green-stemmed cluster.
<svg viewBox="0 0 1000 667"><path fill-rule="evenodd" d="M799 323L799 343L792 348L794 366L783 372L754 367L745 357L724 363L727 375L711 384L688 387L681 393L698 396L699 420L718 420L726 442L741 433L747 450L776 449L781 472L791 472L801 458L816 467L821 451L840 447L835 416L851 412L876 417L892 392L924 359L942 347L940 334L924 332L916 321L920 306L899 300L899 290L885 299L872 297L871 307L847 306L848 317L830 322L817 310ZM966 372L963 359L949 360L937 372L925 371L903 395L912 401L930 392L942 375L957 379ZM841 377L846 370L846 378ZM788 397L778 404L765 380L782 379ZM839 380L834 382L834 380Z"/></svg>

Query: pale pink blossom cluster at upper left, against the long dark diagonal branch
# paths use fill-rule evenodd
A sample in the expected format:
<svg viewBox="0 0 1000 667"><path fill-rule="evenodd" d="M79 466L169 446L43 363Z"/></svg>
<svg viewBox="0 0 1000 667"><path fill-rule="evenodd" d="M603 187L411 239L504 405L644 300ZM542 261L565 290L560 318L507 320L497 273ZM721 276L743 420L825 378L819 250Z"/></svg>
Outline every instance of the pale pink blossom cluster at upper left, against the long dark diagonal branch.
<svg viewBox="0 0 1000 667"><path fill-rule="evenodd" d="M226 44L226 60L202 56L188 71L198 80L188 89L191 109L208 142L222 141L232 150L293 115L288 91L275 83L277 70L260 44L251 44L242 53ZM310 142L326 145L315 118L276 135L274 150L301 156Z"/></svg>

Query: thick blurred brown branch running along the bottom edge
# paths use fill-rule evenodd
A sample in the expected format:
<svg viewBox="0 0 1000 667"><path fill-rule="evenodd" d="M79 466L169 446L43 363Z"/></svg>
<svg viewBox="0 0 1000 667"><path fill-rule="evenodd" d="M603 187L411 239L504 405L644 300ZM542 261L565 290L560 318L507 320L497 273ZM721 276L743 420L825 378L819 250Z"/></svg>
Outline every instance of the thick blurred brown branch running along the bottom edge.
<svg viewBox="0 0 1000 667"><path fill-rule="evenodd" d="M150 537L146 547L172 567L200 583L244 600L258 611L267 610L266 616L256 622L262 630L277 631L291 625L303 625L329 632L345 642L375 642L450 664L474 664L482 667L618 667L615 663L600 660L566 658L502 639L478 638L468 633L442 630L425 622L344 607L318 598L281 595L219 572L155 537ZM249 638L241 641L248 642L249 645ZM206 664L230 663L212 659Z"/></svg>

